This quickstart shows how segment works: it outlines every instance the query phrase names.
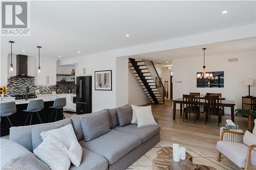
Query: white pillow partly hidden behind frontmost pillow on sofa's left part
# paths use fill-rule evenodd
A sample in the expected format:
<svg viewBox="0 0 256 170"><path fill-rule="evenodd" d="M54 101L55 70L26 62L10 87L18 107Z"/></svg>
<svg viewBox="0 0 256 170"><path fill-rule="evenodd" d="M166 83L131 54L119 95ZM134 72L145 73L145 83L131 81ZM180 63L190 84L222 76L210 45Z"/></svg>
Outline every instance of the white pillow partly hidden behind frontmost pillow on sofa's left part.
<svg viewBox="0 0 256 170"><path fill-rule="evenodd" d="M63 126L58 129L49 130L46 132L40 133L42 140L45 140L45 138L48 135L55 136L60 142L62 142L68 149L70 148L71 143L73 142L73 139L76 139L76 135L74 132L74 129L71 124Z"/></svg>

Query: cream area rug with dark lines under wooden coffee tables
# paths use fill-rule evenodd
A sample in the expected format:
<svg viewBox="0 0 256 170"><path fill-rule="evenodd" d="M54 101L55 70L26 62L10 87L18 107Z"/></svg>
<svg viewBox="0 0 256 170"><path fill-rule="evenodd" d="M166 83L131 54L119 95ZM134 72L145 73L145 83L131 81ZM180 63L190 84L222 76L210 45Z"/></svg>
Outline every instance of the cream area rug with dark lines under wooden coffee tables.
<svg viewBox="0 0 256 170"><path fill-rule="evenodd" d="M164 141L160 141L155 145L150 151L148 151L145 155L143 155L140 159L134 162L127 169L136 169L136 170L151 170L153 169L152 160L156 158L156 152L163 147L172 147L171 143L167 143ZM187 152L193 156L193 163L202 164L207 166L215 167L217 170L222 169L236 169L239 168L230 162L227 158L222 157L221 162L217 162L217 155L210 155L199 151L193 151L191 149L187 149Z"/></svg>

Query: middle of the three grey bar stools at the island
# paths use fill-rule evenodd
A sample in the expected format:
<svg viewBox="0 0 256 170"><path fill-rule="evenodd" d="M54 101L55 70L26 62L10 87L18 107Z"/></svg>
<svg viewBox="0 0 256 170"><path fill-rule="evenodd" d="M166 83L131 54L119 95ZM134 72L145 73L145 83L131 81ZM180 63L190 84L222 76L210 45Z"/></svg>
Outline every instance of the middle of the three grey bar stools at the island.
<svg viewBox="0 0 256 170"><path fill-rule="evenodd" d="M33 113L37 114L37 116L38 116L38 118L40 120L40 123L42 123L42 120L41 120L41 118L40 118L40 116L38 114L38 111L40 111L42 109L44 109L44 101L43 100L40 99L40 100L32 100L32 101L30 101L29 104L28 104L27 109L23 110L25 112L29 112L29 115L28 115L28 117L27 117L27 119L25 121L24 126L26 125L30 115L31 115L31 117L30 117L30 124L29 125L31 125Z"/></svg>

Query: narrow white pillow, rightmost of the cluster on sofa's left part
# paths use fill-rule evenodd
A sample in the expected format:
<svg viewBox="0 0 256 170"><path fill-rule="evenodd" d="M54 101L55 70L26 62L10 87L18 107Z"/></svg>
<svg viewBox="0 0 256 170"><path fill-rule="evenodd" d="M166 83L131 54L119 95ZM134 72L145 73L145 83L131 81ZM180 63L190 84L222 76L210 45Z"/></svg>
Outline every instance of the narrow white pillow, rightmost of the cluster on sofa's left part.
<svg viewBox="0 0 256 170"><path fill-rule="evenodd" d="M70 145L68 156L75 166L80 166L82 159L82 147L76 139L73 139L73 142Z"/></svg>

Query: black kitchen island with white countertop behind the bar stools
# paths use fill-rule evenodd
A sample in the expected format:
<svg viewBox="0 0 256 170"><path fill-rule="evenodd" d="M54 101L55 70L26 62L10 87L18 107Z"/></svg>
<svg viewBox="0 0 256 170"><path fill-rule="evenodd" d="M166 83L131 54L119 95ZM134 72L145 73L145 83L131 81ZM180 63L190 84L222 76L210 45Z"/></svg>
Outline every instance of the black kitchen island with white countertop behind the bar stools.
<svg viewBox="0 0 256 170"><path fill-rule="evenodd" d="M54 100L56 98L66 98L67 101L67 105L65 108L63 108L64 110L71 110L71 111L75 111L75 104L73 103L73 96L76 96L76 94L72 94L72 93L60 93L60 94L39 94L37 95L36 99L28 99L26 100L15 100L14 97L5 97L3 98L3 103L5 102L15 102L16 103L16 113L12 114L9 116L11 123L13 126L24 126L25 120L28 116L28 112L24 112L23 110L27 109L28 103L31 100L38 100L38 99L42 99L44 101L44 109L42 109L41 111L39 111L39 115L40 118L42 120L42 123L48 123L50 116L53 112L53 109L49 108L50 106L53 105ZM59 114L60 112L58 112L57 114L57 120L62 119L61 114ZM50 122L55 121L54 118L52 118L50 120ZM33 115L32 118L32 125L34 124L40 124L40 121L37 117L37 115ZM6 122L5 122L5 118L2 118L1 121L1 136L6 136L9 135L9 128L7 128Z"/></svg>

